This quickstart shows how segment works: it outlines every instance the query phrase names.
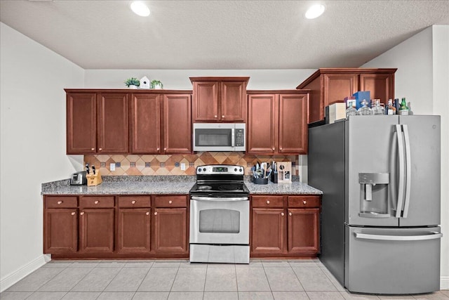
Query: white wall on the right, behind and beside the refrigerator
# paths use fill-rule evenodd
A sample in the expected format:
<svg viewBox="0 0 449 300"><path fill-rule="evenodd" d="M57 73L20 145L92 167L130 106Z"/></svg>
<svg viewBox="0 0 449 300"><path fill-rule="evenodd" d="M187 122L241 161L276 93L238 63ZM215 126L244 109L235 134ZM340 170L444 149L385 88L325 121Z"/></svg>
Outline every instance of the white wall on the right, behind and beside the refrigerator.
<svg viewBox="0 0 449 300"><path fill-rule="evenodd" d="M396 98L415 115L441 115L441 289L449 289L449 26L429 27L361 67L397 67Z"/></svg>

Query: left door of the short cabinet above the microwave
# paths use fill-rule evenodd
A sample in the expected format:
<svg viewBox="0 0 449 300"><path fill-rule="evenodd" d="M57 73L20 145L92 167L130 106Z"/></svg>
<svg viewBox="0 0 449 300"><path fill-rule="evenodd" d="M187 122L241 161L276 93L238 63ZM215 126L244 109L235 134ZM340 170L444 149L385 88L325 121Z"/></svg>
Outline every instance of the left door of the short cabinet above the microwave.
<svg viewBox="0 0 449 300"><path fill-rule="evenodd" d="M218 120L218 82L195 81L192 117L194 122Z"/></svg>

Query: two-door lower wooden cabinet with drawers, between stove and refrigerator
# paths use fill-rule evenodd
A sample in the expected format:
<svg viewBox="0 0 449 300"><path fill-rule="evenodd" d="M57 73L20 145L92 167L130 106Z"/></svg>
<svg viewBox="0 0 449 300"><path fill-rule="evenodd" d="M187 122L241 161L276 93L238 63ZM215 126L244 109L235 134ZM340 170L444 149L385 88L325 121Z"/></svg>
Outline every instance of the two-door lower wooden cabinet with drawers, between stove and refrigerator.
<svg viewBox="0 0 449 300"><path fill-rule="evenodd" d="M319 196L251 197L251 257L319 254Z"/></svg>

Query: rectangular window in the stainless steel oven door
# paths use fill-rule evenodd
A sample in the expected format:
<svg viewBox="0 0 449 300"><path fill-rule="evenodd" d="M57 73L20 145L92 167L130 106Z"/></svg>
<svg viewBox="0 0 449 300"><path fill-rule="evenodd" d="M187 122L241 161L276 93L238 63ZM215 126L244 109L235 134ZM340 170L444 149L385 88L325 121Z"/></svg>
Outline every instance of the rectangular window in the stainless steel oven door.
<svg viewBox="0 0 449 300"><path fill-rule="evenodd" d="M240 211L204 209L199 211L200 233L240 233Z"/></svg>

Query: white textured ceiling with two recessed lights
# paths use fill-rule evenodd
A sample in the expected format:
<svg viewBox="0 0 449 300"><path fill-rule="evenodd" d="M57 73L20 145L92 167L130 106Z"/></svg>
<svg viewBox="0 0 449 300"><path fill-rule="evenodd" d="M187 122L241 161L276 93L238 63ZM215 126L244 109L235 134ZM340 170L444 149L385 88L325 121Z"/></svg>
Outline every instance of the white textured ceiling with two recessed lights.
<svg viewBox="0 0 449 300"><path fill-rule="evenodd" d="M430 25L449 1L0 0L0 20L85 69L359 67Z"/></svg>

